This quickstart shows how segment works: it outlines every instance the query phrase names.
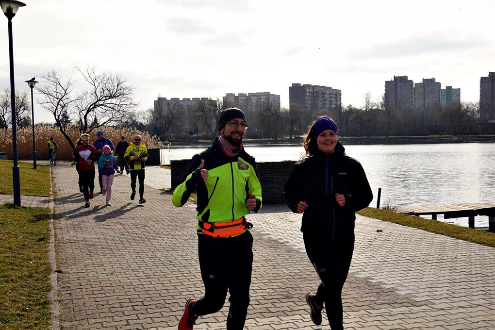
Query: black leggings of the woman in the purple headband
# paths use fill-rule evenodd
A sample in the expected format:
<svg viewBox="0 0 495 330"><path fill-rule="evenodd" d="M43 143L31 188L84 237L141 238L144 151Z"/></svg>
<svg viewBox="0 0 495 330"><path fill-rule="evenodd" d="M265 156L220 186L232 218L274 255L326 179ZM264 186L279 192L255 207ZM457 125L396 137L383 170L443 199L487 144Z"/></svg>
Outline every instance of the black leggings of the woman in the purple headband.
<svg viewBox="0 0 495 330"><path fill-rule="evenodd" d="M325 303L330 328L342 330L342 288L352 260L354 235L340 239L322 237L308 231L302 235L306 253L321 280L314 301L318 305Z"/></svg>

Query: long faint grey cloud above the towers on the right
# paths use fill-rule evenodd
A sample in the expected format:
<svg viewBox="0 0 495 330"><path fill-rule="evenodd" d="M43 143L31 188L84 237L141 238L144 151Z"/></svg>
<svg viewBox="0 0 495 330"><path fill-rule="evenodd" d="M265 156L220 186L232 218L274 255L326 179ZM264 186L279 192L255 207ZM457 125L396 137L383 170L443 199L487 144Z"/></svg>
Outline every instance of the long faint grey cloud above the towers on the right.
<svg viewBox="0 0 495 330"><path fill-rule="evenodd" d="M486 41L480 39L411 38L363 48L354 51L351 56L355 59L405 57L436 51L464 51L486 44Z"/></svg>

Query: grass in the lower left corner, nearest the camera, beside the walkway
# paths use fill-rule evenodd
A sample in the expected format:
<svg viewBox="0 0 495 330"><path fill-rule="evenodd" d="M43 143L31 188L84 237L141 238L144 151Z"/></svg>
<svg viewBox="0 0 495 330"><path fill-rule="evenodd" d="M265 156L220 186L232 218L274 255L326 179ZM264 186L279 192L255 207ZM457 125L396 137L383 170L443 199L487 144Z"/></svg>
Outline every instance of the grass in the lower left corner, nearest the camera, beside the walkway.
<svg viewBox="0 0 495 330"><path fill-rule="evenodd" d="M50 210L0 206L0 329L50 329Z"/></svg>

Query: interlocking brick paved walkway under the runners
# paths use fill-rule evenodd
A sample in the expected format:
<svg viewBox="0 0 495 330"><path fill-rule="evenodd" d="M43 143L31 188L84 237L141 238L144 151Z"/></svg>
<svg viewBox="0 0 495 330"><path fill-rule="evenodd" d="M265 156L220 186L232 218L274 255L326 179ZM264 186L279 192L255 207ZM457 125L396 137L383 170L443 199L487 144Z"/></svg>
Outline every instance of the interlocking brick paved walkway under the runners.
<svg viewBox="0 0 495 330"><path fill-rule="evenodd" d="M171 204L170 172L146 170L147 203L129 199L117 175L112 205L91 208L69 163L53 167L61 329L177 329L189 297L202 295L195 205ZM312 325L304 296L318 285L283 205L249 215L254 264L247 330L330 329ZM380 230L380 231L378 231ZM495 249L358 216L344 287L346 329L495 329ZM195 329L225 329L227 306Z"/></svg>

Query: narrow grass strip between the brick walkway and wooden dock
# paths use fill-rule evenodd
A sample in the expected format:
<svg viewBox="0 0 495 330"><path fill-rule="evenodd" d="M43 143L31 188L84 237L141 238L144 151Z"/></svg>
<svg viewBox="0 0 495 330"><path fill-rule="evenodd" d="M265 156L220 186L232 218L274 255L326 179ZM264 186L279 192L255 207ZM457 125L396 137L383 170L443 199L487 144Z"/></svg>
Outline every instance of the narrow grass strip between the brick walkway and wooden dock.
<svg viewBox="0 0 495 330"><path fill-rule="evenodd" d="M402 226L422 229L427 232L445 235L453 238L466 240L468 242L495 247L495 234L478 229L462 227L445 222L424 219L403 213L396 213L384 209L367 207L359 212L360 215L383 221L393 222Z"/></svg>

